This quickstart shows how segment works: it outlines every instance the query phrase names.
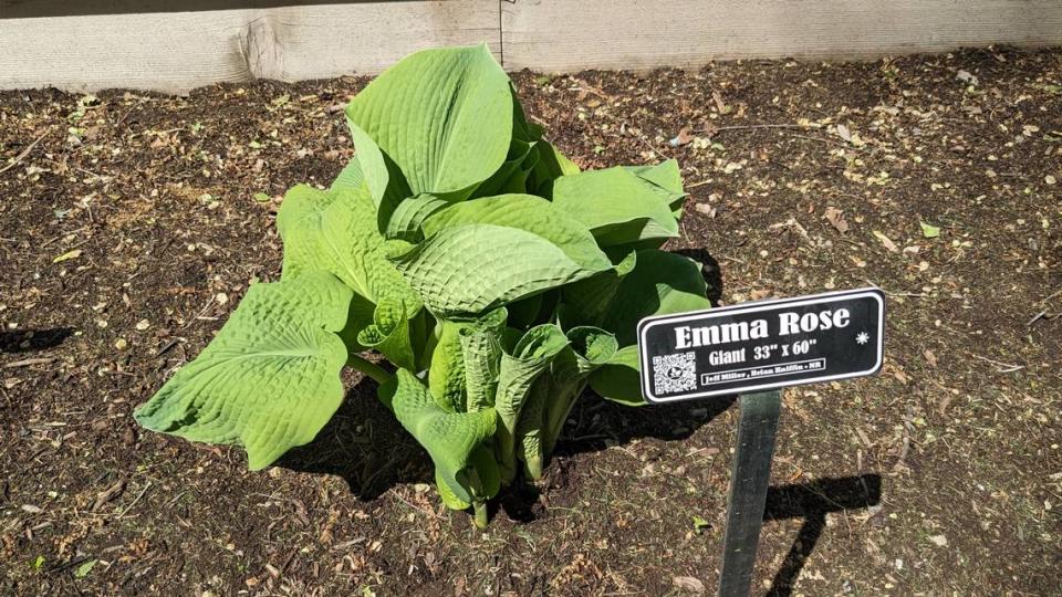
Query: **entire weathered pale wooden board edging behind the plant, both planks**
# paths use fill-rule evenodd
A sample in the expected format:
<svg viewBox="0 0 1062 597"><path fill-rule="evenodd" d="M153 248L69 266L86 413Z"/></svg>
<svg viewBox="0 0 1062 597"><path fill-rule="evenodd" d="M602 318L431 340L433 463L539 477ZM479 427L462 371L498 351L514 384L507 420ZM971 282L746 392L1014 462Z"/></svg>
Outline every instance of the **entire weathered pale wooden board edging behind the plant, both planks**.
<svg viewBox="0 0 1062 597"><path fill-rule="evenodd" d="M1062 45L1062 0L0 0L0 88L376 73L481 41L539 71Z"/></svg>

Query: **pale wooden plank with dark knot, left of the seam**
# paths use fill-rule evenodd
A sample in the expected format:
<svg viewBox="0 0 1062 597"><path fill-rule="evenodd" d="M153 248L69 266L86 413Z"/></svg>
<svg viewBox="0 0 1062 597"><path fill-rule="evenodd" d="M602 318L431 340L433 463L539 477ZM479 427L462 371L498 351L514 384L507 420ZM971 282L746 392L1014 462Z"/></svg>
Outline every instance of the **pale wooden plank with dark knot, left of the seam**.
<svg viewBox="0 0 1062 597"><path fill-rule="evenodd" d="M424 48L487 42L498 53L498 0L410 0L69 17L0 12L0 88L180 93L256 77L377 73Z"/></svg>

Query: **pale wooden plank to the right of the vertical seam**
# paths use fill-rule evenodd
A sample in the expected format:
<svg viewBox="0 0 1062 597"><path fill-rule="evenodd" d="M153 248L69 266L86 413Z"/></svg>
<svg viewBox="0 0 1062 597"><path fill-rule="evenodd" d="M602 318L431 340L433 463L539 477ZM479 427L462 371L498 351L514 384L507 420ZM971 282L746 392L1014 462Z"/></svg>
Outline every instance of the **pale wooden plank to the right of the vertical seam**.
<svg viewBox="0 0 1062 597"><path fill-rule="evenodd" d="M1062 44L1060 0L507 0L510 70L696 67Z"/></svg>

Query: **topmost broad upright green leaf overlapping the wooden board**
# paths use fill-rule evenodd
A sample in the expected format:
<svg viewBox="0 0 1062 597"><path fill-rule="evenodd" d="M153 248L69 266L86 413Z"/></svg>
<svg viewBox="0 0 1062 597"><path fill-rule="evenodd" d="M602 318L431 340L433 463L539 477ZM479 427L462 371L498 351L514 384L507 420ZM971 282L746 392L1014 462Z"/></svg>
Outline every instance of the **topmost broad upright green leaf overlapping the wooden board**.
<svg viewBox="0 0 1062 597"><path fill-rule="evenodd" d="M509 77L486 44L425 50L369 83L346 119L377 203L395 182L388 163L402 172L405 197L464 198L506 161Z"/></svg>

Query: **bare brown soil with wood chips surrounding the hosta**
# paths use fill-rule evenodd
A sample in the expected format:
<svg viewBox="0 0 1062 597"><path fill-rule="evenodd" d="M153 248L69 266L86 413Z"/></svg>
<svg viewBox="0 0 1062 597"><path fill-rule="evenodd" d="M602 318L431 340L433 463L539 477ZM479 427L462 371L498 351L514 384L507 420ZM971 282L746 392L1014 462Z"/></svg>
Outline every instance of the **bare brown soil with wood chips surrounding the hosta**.
<svg viewBox="0 0 1062 597"><path fill-rule="evenodd" d="M514 78L581 166L679 160L719 303L888 295L882 375L785 392L758 591L1062 594L1062 52ZM369 380L266 472L136 427L364 84L0 93L0 594L714 590L732 400L585 396L486 532Z"/></svg>

